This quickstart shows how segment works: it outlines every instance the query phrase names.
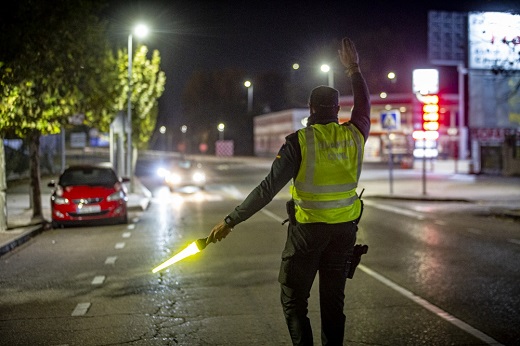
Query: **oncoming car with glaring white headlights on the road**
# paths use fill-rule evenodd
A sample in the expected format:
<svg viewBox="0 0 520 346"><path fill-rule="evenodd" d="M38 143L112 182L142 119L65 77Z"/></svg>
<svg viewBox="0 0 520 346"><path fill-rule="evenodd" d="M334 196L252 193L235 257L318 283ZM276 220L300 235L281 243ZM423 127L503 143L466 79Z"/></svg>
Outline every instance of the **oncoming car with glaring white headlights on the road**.
<svg viewBox="0 0 520 346"><path fill-rule="evenodd" d="M179 161L170 169L159 168L157 174L164 179L170 191L188 186L204 189L206 186L206 173L202 164L197 162Z"/></svg>

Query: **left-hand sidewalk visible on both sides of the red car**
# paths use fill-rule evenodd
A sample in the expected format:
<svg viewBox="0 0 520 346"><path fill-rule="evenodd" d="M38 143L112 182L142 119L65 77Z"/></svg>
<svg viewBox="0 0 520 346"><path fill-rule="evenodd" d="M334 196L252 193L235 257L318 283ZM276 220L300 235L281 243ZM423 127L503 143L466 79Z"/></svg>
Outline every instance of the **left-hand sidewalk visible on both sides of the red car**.
<svg viewBox="0 0 520 346"><path fill-rule="evenodd" d="M145 210L152 198L152 193L141 184L139 179L134 180L135 192L128 194L128 210ZM32 220L29 194L23 193L27 186L20 186L6 193L7 230L0 231L0 256L22 245L31 237L45 230L43 220ZM43 218L51 220L50 192L42 193Z"/></svg>

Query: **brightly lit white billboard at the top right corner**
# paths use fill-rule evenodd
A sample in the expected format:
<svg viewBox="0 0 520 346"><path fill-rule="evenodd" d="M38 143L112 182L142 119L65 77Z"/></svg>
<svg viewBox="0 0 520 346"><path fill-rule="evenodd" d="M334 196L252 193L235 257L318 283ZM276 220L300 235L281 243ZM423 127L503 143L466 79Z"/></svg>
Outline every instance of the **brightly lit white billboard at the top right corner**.
<svg viewBox="0 0 520 346"><path fill-rule="evenodd" d="M470 12L468 31L470 69L520 70L520 15Z"/></svg>

